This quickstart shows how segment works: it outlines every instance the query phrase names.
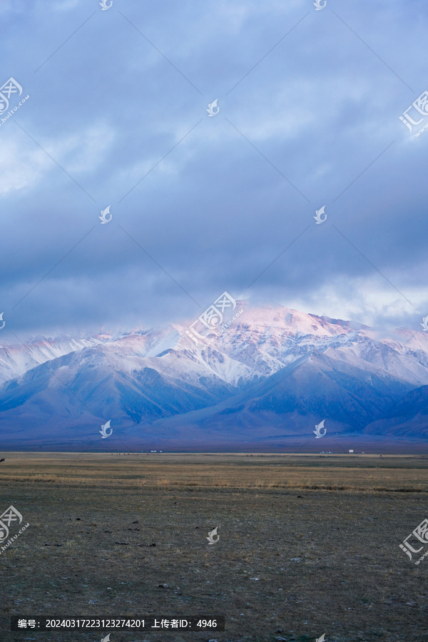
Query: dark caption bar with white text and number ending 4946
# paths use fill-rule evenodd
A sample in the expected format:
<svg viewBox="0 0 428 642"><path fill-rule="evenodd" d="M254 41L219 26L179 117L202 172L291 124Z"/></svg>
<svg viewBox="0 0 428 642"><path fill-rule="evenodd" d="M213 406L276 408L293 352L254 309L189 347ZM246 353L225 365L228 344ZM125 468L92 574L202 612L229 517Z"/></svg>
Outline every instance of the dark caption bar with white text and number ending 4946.
<svg viewBox="0 0 428 642"><path fill-rule="evenodd" d="M20 618L11 616L11 631L224 631L225 616L179 618Z"/></svg>

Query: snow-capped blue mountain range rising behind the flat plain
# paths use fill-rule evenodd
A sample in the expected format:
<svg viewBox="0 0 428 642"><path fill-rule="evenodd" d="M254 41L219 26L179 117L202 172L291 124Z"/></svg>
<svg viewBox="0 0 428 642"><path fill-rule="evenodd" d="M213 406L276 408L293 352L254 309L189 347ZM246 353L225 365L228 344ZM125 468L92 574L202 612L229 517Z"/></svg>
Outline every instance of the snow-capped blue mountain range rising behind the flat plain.
<svg viewBox="0 0 428 642"><path fill-rule="evenodd" d="M281 306L240 311L197 345L188 324L172 324L0 347L3 447L99 447L108 419L103 447L113 449L115 439L137 449L280 444L312 439L322 419L330 434L425 439L405 399L428 386L427 334L379 336Z"/></svg>

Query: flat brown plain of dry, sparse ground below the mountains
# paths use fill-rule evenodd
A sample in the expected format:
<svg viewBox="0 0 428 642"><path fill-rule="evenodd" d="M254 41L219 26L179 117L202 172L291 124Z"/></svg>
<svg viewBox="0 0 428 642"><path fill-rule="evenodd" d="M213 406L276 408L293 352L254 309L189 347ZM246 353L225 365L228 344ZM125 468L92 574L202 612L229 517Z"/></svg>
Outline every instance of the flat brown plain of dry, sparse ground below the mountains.
<svg viewBox="0 0 428 642"><path fill-rule="evenodd" d="M111 642L428 639L428 558L399 549L428 516L426 457L1 457L0 513L13 504L30 524L0 554L1 642L107 633L11 633L11 615L203 613L225 631Z"/></svg>

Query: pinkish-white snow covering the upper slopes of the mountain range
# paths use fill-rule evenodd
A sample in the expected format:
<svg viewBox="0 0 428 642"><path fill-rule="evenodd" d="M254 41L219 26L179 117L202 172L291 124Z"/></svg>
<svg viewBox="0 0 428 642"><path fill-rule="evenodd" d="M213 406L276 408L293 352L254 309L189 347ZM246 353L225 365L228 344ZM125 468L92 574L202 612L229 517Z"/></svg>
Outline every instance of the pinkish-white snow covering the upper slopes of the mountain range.
<svg viewBox="0 0 428 642"><path fill-rule="evenodd" d="M116 346L115 350L124 357L161 358L159 355L167 350L180 350L178 344L185 327L172 324L169 327L133 330L116 335L100 333L76 339L60 337L30 342L27 346L0 347L0 384L19 377L40 363L93 345ZM268 376L314 349L319 352L335 350L336 357L343 360L352 360L355 355L415 385L428 383L427 335L405 330L395 334L394 338L377 339L376 333L366 326L278 306L246 309L227 332L215 338L211 351L204 344L195 347L190 340L187 343L182 341L180 345L208 366L210 358L216 355L217 364L211 365L232 384L236 384L240 377L245 377L245 373L250 379L253 374ZM220 367L219 353L233 360L233 367ZM246 366L242 372L237 369L237 362Z"/></svg>

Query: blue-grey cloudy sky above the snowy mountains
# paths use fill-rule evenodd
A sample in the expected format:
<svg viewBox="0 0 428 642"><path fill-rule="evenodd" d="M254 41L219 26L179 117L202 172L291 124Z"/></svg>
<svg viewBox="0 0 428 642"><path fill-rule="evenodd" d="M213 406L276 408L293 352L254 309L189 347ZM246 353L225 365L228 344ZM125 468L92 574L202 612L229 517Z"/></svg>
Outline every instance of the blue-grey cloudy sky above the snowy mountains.
<svg viewBox="0 0 428 642"><path fill-rule="evenodd" d="M191 320L225 290L419 327L428 108L412 132L399 116L428 89L426 1L2 0L0 19L0 84L23 89L0 114L1 340Z"/></svg>

